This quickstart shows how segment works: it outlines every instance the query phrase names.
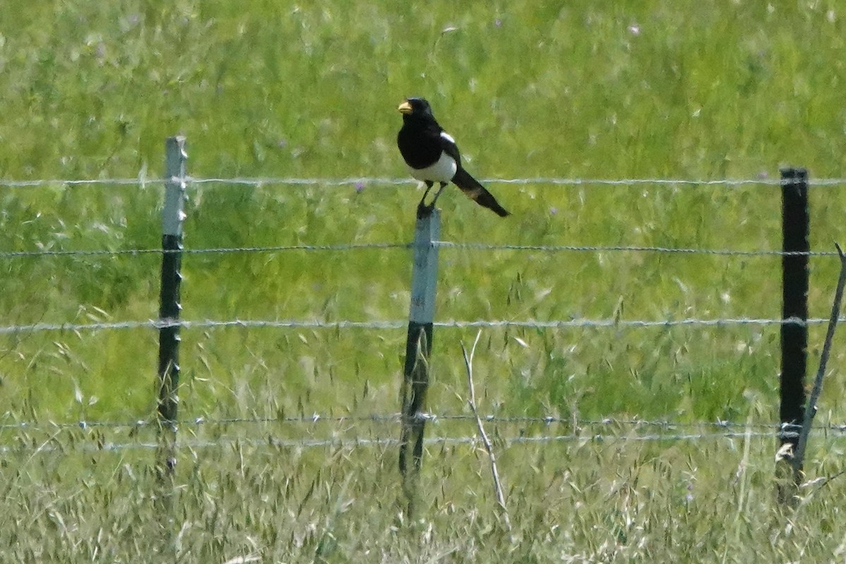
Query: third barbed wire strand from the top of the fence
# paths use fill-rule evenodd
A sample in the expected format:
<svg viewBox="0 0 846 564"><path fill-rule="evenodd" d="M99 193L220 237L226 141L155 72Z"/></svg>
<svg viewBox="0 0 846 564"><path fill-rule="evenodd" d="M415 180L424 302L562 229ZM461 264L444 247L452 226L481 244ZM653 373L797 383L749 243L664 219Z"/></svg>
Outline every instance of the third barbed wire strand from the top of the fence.
<svg viewBox="0 0 846 564"><path fill-rule="evenodd" d="M838 321L846 321L846 317ZM828 323L827 319L811 318L800 320L798 317L787 319L754 319L754 318L717 318L717 319L680 319L680 320L618 320L618 319L572 319L572 320L447 320L435 321L436 327L450 328L523 328L523 329L572 329L580 327L614 327L618 329L640 327L678 327L678 326L768 326L792 325L812 326ZM99 321L93 323L32 323L24 325L0 326L0 335L12 333L32 333L42 331L110 331L119 329L166 329L181 327L183 329L210 329L225 327L240 328L273 328L273 329L374 329L390 330L402 329L408 322L404 320L125 320Z"/></svg>

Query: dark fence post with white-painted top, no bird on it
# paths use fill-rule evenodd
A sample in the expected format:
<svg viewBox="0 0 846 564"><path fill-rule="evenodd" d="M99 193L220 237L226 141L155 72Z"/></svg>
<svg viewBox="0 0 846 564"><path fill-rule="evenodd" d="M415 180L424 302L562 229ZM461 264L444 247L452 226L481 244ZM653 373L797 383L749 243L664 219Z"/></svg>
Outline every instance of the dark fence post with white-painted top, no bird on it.
<svg viewBox="0 0 846 564"><path fill-rule="evenodd" d="M162 210L162 290L159 320L179 320L179 285L182 282L182 224L185 200L185 138L169 137L165 143L165 194ZM159 329L158 416L162 452L159 472L173 474L176 467L176 416L179 407L179 326Z"/></svg>

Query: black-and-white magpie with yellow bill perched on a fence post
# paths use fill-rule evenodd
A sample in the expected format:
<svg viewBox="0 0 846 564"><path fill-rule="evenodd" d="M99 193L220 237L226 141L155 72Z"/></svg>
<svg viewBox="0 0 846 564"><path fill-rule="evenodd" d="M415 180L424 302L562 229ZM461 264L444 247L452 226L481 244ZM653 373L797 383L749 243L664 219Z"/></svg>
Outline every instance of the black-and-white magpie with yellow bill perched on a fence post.
<svg viewBox="0 0 846 564"><path fill-rule="evenodd" d="M429 102L423 98L406 98L397 108L403 114L403 127L397 134L397 146L411 176L426 183L426 192L417 206L417 216L428 216L435 209L437 197L448 183L458 186L470 200L492 210L497 216L510 215L493 195L470 172L461 166L461 155L455 140L437 123ZM441 183L431 204L426 195L434 183Z"/></svg>

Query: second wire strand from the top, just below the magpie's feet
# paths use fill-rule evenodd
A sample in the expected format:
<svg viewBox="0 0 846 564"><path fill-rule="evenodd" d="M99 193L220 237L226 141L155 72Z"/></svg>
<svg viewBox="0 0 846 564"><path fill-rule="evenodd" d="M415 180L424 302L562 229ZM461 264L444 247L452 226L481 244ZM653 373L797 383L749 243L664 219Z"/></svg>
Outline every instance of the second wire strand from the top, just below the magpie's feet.
<svg viewBox="0 0 846 564"><path fill-rule="evenodd" d="M782 250L737 250L737 249L677 249L671 247L631 245L519 245L487 243L454 243L435 241L444 249L473 250L519 250L546 253L589 252L589 253L669 253L681 255L728 255L728 256L838 256L835 251L782 251ZM22 251L0 251L0 259L34 258L47 256L135 256L135 255L211 255L232 253L278 253L287 251L348 251L364 249L411 249L410 243L340 243L340 244L293 244L252 247L215 247L209 249L39 249Z"/></svg>

